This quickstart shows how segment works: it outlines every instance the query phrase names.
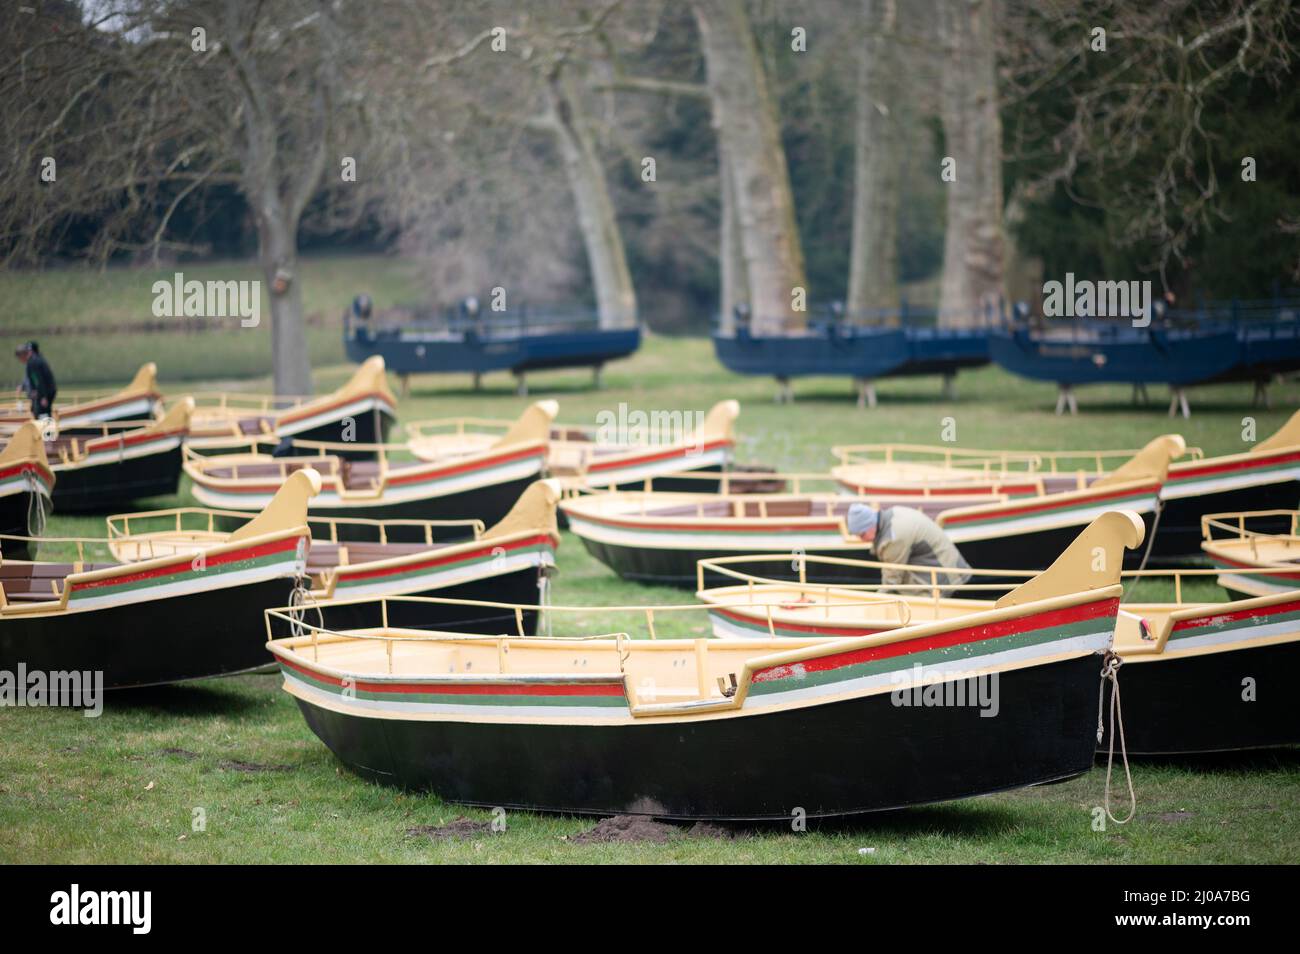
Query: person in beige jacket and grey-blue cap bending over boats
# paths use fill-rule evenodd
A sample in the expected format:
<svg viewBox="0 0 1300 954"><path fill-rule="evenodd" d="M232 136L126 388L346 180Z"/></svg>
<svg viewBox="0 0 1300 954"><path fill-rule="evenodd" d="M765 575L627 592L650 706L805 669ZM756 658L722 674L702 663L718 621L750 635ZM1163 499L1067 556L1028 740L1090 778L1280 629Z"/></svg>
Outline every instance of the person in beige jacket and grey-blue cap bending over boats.
<svg viewBox="0 0 1300 954"><path fill-rule="evenodd" d="M950 597L954 590L970 581L970 564L944 533L942 528L919 509L911 507L885 507L876 509L864 503L849 507L849 533L871 543L880 563L897 563L913 567L942 567L957 571L940 573L940 595ZM933 577L920 569L883 569L881 589L892 586L931 586ZM920 590L905 590L920 593Z"/></svg>

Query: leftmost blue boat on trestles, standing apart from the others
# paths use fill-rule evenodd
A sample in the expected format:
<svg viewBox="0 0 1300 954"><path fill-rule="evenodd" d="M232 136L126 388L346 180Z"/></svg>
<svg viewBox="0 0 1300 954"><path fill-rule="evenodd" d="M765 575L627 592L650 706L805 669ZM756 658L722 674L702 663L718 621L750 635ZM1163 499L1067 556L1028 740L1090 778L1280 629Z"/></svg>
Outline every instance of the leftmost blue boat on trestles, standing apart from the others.
<svg viewBox="0 0 1300 954"><path fill-rule="evenodd" d="M627 357L641 346L641 329L545 331L480 337L474 333L359 331L344 338L347 356L382 355L398 374L528 372L590 368Z"/></svg>

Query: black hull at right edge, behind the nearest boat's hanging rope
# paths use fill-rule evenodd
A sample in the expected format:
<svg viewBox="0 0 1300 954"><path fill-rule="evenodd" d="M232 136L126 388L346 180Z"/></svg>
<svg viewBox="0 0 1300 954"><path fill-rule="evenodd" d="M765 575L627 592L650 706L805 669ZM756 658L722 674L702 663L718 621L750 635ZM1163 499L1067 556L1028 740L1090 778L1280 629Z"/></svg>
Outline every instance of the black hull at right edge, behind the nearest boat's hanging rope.
<svg viewBox="0 0 1300 954"><path fill-rule="evenodd" d="M1253 685L1249 702L1245 680ZM1300 745L1297 681L1300 642L1122 665L1127 751L1193 755ZM1108 685L1108 707L1110 691Z"/></svg>

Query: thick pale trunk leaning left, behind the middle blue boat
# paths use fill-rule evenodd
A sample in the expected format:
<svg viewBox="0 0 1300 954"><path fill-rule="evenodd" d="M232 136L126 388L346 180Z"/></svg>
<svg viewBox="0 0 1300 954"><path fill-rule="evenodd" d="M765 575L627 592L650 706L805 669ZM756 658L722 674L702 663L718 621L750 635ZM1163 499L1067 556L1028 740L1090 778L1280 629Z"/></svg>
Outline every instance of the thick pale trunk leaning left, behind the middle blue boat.
<svg viewBox="0 0 1300 954"><path fill-rule="evenodd" d="M734 185L754 329L802 328L792 305L807 290L803 247L794 220L776 108L750 30L744 0L693 0L708 66L714 126Z"/></svg>

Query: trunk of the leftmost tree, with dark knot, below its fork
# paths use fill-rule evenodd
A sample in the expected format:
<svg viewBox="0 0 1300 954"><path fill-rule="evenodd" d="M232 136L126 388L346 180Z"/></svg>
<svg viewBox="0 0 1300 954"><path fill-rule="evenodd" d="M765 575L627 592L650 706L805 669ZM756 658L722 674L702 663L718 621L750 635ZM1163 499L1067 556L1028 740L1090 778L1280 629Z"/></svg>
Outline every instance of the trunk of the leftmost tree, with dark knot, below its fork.
<svg viewBox="0 0 1300 954"><path fill-rule="evenodd" d="M312 363L298 279L298 222L276 198L257 209L257 252L270 299L270 363L276 394L311 394Z"/></svg>

